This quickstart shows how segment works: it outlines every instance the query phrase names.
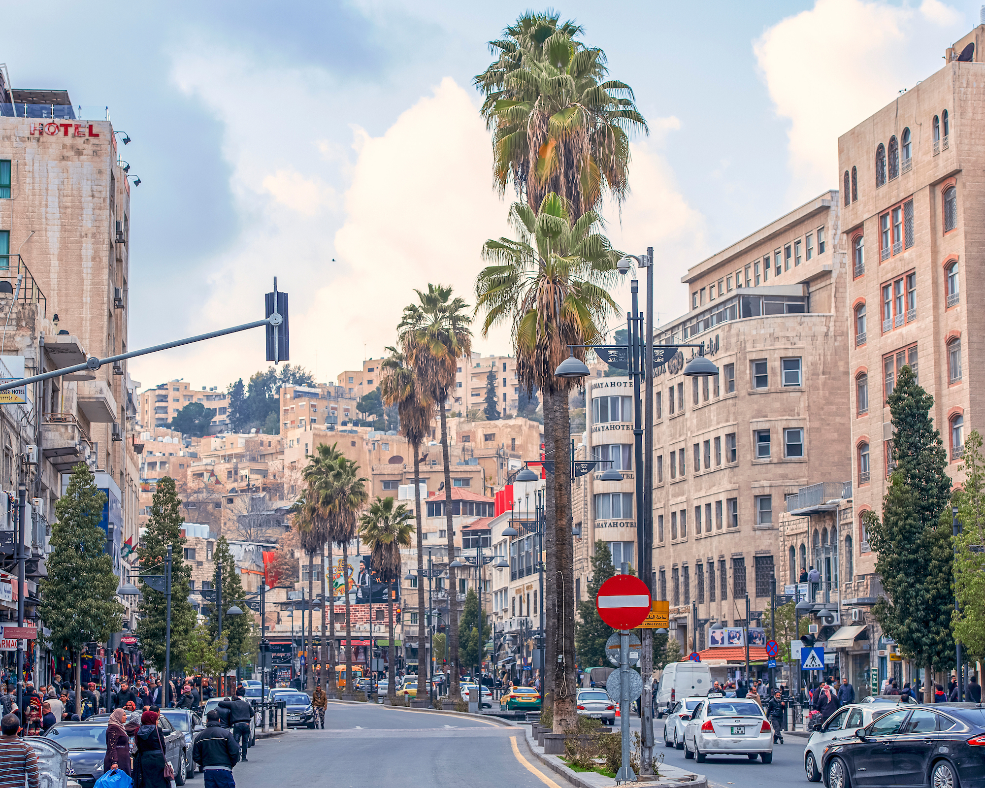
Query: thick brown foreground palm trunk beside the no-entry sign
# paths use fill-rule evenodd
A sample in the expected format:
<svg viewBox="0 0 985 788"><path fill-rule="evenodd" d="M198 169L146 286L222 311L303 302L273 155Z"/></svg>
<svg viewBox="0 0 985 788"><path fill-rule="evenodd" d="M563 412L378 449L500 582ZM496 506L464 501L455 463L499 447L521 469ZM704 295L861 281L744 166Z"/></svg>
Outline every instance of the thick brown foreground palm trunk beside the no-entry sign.
<svg viewBox="0 0 985 788"><path fill-rule="evenodd" d="M574 668L574 542L571 536L571 428L566 391L553 397L555 444L555 592L554 730L574 731L578 723ZM549 523L550 525L550 523Z"/></svg>

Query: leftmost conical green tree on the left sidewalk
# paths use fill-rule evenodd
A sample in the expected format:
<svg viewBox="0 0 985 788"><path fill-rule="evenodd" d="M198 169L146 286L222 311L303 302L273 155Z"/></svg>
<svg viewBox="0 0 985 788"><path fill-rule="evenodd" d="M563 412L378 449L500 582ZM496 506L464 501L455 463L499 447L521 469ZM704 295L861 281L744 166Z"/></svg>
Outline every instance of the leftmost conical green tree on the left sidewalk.
<svg viewBox="0 0 985 788"><path fill-rule="evenodd" d="M119 631L124 612L116 599L119 578L99 528L105 501L93 473L79 463L55 504L58 519L51 529L48 576L41 580L39 612L51 631L47 641L55 652L68 649L75 665L76 713L82 698L81 650Z"/></svg>

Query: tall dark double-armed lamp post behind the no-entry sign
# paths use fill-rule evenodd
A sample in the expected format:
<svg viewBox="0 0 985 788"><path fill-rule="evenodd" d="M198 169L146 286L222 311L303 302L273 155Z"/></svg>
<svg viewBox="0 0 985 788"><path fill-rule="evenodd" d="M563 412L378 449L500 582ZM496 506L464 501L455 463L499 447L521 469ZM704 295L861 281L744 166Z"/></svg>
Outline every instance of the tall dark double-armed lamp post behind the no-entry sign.
<svg viewBox="0 0 985 788"><path fill-rule="evenodd" d="M575 348L591 348L602 351L599 354L610 366L625 369L633 378L634 423L633 438L636 454L636 545L639 577L650 590L651 598L656 594L653 582L653 372L656 366L670 361L681 348L693 348L697 355L692 357L684 368L688 377L711 377L718 374L718 367L704 357L704 343L677 345L653 345L653 247L648 246L646 254L628 254L617 264L620 274L625 275L630 268L629 260L637 268L646 269L646 321L639 312L639 285L636 279L630 282L632 310L626 314L628 345L568 345L571 356L558 364L555 375L567 378L584 378L589 375L584 361L574 357ZM644 339L645 332L645 339ZM646 388L645 412L641 408L640 390ZM645 471L645 473L641 473ZM642 476L642 480L640 480ZM653 695L653 630L643 629L642 636L643 695ZM643 747L640 771L653 773L653 708L652 703L641 704L643 714Z"/></svg>

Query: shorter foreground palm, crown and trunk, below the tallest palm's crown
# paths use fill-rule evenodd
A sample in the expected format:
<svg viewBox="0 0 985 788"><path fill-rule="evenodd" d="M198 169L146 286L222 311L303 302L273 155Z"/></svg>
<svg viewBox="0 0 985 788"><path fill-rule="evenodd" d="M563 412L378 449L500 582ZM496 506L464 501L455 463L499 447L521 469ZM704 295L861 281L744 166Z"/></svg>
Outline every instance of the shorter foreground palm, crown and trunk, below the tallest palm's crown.
<svg viewBox="0 0 985 788"><path fill-rule="evenodd" d="M554 707L555 730L570 731L577 712L568 391L579 383L554 372L568 357L569 345L604 336L606 316L618 311L607 286L622 255L597 231L596 213L574 220L557 194L548 194L536 213L526 203L513 203L509 219L517 238L483 246L483 258L493 265L476 280L476 311L486 315L484 336L494 325L510 326L516 374L528 391L537 386L544 396L545 448L555 461L546 496L545 699ZM575 355L583 358L584 351Z"/></svg>

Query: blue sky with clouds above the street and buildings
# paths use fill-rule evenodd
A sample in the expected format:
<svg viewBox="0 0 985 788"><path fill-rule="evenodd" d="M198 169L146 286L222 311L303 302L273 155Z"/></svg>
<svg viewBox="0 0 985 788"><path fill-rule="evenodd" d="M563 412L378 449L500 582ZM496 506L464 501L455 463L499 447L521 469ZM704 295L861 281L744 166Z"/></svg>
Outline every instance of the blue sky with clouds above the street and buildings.
<svg viewBox="0 0 985 788"><path fill-rule="evenodd" d="M527 2L8 5L15 88L109 107L132 142L130 348L263 317L291 298L291 361L319 381L379 358L428 283L474 301L487 238L516 199L493 186L472 77ZM979 4L786 0L554 4L602 47L650 133L616 248L655 249L658 323L682 275L837 188L837 137L944 65ZM43 33L41 33L43 31ZM41 40L43 39L43 41ZM30 253L25 249L30 266ZM628 288L615 292L623 311ZM624 317L614 315L618 328ZM477 328L478 331L478 328ZM511 353L508 334L477 336ZM144 387L219 386L267 366L260 329L130 362Z"/></svg>

